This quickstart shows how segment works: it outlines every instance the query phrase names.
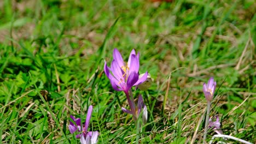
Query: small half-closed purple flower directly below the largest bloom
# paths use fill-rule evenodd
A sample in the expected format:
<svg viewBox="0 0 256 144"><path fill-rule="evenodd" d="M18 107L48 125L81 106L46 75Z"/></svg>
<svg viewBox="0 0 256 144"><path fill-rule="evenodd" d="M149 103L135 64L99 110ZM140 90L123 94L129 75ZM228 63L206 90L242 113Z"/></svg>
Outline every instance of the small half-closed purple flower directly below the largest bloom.
<svg viewBox="0 0 256 144"><path fill-rule="evenodd" d="M139 97L138 97L138 104L137 104L137 106L131 107L131 109L134 109L135 113L133 113L132 111L127 110L124 107L122 107L123 112L132 114L133 117L135 118L135 120L138 119L139 115L141 115L141 112L142 112L142 122L144 124L147 123L148 110L147 110L147 106L143 103L143 98L142 98L141 95L139 95Z"/></svg>

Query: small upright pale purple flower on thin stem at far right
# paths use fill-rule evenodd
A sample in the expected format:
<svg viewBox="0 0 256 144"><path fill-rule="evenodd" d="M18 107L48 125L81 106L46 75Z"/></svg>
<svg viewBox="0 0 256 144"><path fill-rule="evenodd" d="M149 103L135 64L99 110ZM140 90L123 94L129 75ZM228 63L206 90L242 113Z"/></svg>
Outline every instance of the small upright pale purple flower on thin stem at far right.
<svg viewBox="0 0 256 144"><path fill-rule="evenodd" d="M213 77L209 79L207 85L206 83L203 83L203 93L205 94L205 98L207 101L212 101L215 88L216 88L216 81L213 80Z"/></svg>

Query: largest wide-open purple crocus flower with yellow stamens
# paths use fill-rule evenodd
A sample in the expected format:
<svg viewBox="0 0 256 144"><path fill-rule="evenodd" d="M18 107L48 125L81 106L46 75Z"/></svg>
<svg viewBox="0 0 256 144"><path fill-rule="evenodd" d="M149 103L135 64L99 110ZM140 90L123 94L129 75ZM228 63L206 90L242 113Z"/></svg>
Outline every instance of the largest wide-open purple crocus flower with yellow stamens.
<svg viewBox="0 0 256 144"><path fill-rule="evenodd" d="M115 91L124 91L126 94L132 86L137 86L147 80L148 73L146 72L139 79L139 53L133 49L130 53L128 62L125 63L123 57L117 49L113 52L113 61L110 68L107 62L104 64L104 72L107 75L112 87Z"/></svg>

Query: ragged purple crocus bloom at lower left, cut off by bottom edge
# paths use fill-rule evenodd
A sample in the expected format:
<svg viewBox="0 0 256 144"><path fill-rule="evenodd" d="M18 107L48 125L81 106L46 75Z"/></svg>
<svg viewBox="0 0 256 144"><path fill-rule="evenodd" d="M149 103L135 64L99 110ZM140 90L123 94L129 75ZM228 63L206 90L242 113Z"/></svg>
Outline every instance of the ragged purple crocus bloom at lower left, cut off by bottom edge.
<svg viewBox="0 0 256 144"><path fill-rule="evenodd" d="M98 131L88 131L90 119L91 119L91 113L92 113L92 105L89 106L86 120L84 127L81 125L81 119L80 118L75 118L74 116L70 116L71 119L73 119L73 122L70 122L68 125L69 131L71 134L77 132L82 132L82 134L78 134L75 137L80 139L81 143L97 143L97 136L98 136Z"/></svg>

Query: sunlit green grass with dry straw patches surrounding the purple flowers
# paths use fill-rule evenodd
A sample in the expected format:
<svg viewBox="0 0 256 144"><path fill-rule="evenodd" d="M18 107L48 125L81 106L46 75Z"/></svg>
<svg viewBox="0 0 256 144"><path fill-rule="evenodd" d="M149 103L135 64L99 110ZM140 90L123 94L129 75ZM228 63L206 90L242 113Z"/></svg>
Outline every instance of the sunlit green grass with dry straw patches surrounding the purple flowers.
<svg viewBox="0 0 256 144"><path fill-rule="evenodd" d="M136 91L149 113L139 142L202 143L211 76L211 116L224 134L256 142L254 1L0 3L0 143L79 143L69 116L84 122L89 105L98 143L135 142L126 97L103 72L114 47L125 59L140 52L140 73L154 78Z"/></svg>

